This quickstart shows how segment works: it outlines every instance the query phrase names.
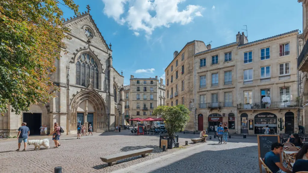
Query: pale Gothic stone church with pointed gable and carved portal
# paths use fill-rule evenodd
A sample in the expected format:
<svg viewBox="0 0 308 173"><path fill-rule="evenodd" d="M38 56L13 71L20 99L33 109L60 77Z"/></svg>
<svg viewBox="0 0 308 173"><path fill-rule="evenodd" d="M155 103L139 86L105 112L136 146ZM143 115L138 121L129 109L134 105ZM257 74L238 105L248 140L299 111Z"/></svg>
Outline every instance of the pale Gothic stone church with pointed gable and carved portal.
<svg viewBox="0 0 308 173"><path fill-rule="evenodd" d="M57 97L46 105L31 105L28 112L17 115L7 112L0 116L0 131L17 135L18 127L26 122L30 135L39 135L40 126L53 130L58 122L64 134L77 133L77 122L93 131L112 131L124 122L124 76L112 66L111 44L92 19L89 10L67 19L71 40L65 39L68 54L61 52L55 60L57 70L51 80L60 87ZM10 108L9 108L10 110Z"/></svg>

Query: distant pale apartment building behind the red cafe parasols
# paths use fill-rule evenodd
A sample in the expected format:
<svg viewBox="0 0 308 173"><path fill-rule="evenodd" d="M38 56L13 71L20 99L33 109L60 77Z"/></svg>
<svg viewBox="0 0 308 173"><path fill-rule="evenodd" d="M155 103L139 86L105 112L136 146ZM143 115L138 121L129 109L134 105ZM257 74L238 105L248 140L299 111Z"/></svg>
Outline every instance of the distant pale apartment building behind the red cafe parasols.
<svg viewBox="0 0 308 173"><path fill-rule="evenodd" d="M130 85L124 86L125 120L133 118L157 118L152 116L153 110L165 105L165 85L163 79L134 78L131 75ZM136 122L135 122L136 123ZM133 124L133 122L130 122Z"/></svg>

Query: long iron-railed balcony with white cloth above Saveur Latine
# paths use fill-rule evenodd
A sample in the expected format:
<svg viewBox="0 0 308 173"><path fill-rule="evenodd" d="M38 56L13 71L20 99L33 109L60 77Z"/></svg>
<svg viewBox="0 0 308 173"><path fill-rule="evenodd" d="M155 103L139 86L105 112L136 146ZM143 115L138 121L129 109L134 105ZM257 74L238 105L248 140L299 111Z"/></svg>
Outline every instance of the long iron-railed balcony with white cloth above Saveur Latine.
<svg viewBox="0 0 308 173"><path fill-rule="evenodd" d="M299 107L298 101L282 101L282 102L271 102L271 103L245 103L237 104L237 109L273 109L273 108L286 108Z"/></svg>

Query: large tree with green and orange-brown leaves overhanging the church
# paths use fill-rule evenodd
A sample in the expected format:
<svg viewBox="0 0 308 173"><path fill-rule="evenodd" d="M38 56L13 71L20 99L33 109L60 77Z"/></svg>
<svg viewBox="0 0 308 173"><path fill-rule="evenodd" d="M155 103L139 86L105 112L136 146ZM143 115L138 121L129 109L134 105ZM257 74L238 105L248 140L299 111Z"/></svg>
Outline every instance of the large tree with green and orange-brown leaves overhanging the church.
<svg viewBox="0 0 308 173"><path fill-rule="evenodd" d="M47 103L59 90L50 80L55 58L65 50L70 30L59 5L78 13L73 0L0 1L0 112L20 114L31 104ZM2 114L3 115L3 114Z"/></svg>

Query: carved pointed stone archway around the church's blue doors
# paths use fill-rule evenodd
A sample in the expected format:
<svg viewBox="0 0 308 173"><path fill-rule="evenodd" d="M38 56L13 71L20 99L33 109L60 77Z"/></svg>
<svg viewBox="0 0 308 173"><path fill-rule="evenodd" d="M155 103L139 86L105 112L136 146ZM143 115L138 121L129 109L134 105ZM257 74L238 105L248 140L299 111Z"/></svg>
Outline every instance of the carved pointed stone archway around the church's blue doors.
<svg viewBox="0 0 308 173"><path fill-rule="evenodd" d="M77 92L73 95L73 99L70 104L70 113L68 116L68 133L74 133L77 131L77 109L79 104L84 100L90 102L95 110L93 117L93 129L94 131L102 131L107 127L107 114L106 114L106 103L103 98L93 89L90 83L88 88ZM87 115L87 111L86 111Z"/></svg>

